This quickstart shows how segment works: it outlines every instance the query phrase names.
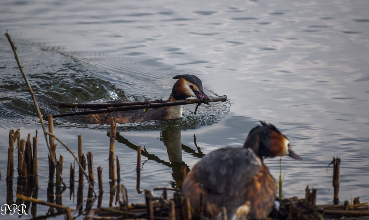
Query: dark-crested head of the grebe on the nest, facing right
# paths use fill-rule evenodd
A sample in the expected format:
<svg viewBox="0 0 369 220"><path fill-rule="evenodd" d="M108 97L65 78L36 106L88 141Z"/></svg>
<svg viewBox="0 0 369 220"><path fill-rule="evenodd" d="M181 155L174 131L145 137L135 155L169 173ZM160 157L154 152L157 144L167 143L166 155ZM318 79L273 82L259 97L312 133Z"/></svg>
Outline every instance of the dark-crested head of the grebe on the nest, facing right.
<svg viewBox="0 0 369 220"><path fill-rule="evenodd" d="M261 125L251 129L244 148L251 148L260 158L288 155L294 159L302 160L292 151L290 140L272 124L260 121Z"/></svg>

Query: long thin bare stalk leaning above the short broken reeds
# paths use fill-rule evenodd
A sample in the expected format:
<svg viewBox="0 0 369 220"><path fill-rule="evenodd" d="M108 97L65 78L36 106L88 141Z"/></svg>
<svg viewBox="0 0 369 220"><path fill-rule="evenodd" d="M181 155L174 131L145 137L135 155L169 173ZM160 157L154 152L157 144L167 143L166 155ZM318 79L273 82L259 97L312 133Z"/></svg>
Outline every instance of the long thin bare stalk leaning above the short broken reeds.
<svg viewBox="0 0 369 220"><path fill-rule="evenodd" d="M49 142L47 140L47 131L46 131L46 127L45 127L45 124L44 124L44 120L42 119L42 114L41 114L41 111L40 111L40 109L38 107L38 104L37 104L37 101L36 101L36 97L35 97L35 94L33 93L33 90L32 90L32 87L30 85L30 82L28 82L27 76L25 75L25 73L23 71L23 66L21 65L21 62L20 62L20 60L18 58L17 48L15 47L13 41L11 40L10 35L8 34L8 31L5 33L5 36L8 38L8 41L9 41L9 43L11 45L11 48L13 49L15 60L18 63L18 67L19 67L19 69L20 69L20 71L22 73L22 76L24 78L25 83L28 86L28 90L29 90L29 92L30 92L30 94L32 96L33 102L35 103L37 114L38 114L38 117L40 119L40 123L41 123L42 129L44 130L46 145L48 147L49 154L52 155L51 146L50 146L50 144L49 144ZM51 157L51 161L52 161L52 163L55 166L56 165L56 162L55 162L55 159L53 157Z"/></svg>

